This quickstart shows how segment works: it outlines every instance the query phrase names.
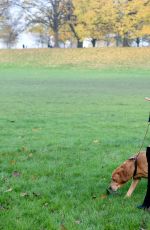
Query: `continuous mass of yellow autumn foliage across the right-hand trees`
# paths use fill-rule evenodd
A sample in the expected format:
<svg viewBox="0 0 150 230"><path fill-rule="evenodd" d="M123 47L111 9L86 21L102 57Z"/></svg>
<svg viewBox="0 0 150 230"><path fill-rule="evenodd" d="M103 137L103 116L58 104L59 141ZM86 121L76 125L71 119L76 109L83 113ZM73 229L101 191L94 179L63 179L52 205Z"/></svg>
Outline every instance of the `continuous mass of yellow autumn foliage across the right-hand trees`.
<svg viewBox="0 0 150 230"><path fill-rule="evenodd" d="M73 0L80 37L107 34L136 38L150 34L149 0Z"/></svg>

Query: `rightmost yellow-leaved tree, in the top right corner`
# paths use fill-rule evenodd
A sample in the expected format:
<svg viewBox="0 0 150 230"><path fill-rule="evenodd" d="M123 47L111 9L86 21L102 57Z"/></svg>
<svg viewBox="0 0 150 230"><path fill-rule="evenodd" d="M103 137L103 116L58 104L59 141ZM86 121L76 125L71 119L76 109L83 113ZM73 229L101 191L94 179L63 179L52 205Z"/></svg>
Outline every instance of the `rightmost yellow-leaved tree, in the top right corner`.
<svg viewBox="0 0 150 230"><path fill-rule="evenodd" d="M150 33L150 1L118 0L114 7L116 10L114 31L123 39L123 46L130 46L129 39L136 39L139 46L139 37L145 32Z"/></svg>

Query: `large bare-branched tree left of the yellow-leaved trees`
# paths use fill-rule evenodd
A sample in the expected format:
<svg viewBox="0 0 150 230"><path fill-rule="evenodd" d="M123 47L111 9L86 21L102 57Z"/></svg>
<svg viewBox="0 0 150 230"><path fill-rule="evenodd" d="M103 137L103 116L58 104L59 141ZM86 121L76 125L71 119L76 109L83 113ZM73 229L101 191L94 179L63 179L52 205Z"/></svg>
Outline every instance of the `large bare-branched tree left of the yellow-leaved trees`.
<svg viewBox="0 0 150 230"><path fill-rule="evenodd" d="M59 31L66 23L67 0L29 0L22 4L27 26L43 25L55 38L58 47Z"/></svg>

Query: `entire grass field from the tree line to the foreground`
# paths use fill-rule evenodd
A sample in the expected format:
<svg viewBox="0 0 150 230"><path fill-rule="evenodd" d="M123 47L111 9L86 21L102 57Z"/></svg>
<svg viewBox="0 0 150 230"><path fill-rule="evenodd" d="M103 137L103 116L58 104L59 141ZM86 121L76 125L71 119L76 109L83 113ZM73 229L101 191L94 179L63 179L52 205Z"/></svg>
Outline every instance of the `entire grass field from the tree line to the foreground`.
<svg viewBox="0 0 150 230"><path fill-rule="evenodd" d="M111 49L95 49L103 66L95 65L97 54L85 65L93 50L82 51L84 58L73 51L79 63L57 63L58 52L71 56L57 50L56 66L48 53L39 65L40 52L51 51L0 53L0 229L150 229L149 213L136 208L146 180L130 199L130 183L105 196L112 171L144 137L150 49L116 50L128 52L117 63L110 63ZM144 149L149 143L150 133Z"/></svg>

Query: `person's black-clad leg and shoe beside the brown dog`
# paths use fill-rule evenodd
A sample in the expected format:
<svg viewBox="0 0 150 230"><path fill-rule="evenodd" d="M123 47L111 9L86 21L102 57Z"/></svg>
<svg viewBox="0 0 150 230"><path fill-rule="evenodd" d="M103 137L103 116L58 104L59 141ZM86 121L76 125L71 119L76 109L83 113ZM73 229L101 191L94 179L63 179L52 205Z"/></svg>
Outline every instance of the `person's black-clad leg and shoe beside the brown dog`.
<svg viewBox="0 0 150 230"><path fill-rule="evenodd" d="M150 211L150 147L147 147L146 158L148 162L147 192L143 204L138 206L138 208Z"/></svg>

